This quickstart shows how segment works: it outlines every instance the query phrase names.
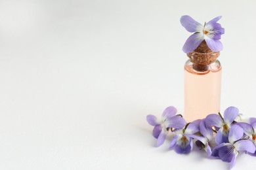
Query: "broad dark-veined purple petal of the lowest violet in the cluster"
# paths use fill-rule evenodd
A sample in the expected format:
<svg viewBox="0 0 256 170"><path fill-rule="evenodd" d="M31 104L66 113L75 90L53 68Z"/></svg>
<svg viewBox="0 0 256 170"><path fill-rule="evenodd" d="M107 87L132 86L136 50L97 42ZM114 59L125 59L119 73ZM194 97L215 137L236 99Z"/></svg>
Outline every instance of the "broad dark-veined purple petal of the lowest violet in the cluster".
<svg viewBox="0 0 256 170"><path fill-rule="evenodd" d="M228 144L219 148L219 158L221 158L223 161L231 162L232 158L236 156L234 152L233 144Z"/></svg>

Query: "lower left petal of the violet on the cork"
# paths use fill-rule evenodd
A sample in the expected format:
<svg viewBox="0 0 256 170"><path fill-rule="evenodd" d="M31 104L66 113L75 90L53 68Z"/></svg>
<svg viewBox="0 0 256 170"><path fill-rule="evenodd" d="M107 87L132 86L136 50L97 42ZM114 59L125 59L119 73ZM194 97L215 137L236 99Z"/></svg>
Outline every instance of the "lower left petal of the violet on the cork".
<svg viewBox="0 0 256 170"><path fill-rule="evenodd" d="M202 33L194 33L188 37L186 40L182 50L185 53L194 51L199 44L203 41L203 34Z"/></svg>

